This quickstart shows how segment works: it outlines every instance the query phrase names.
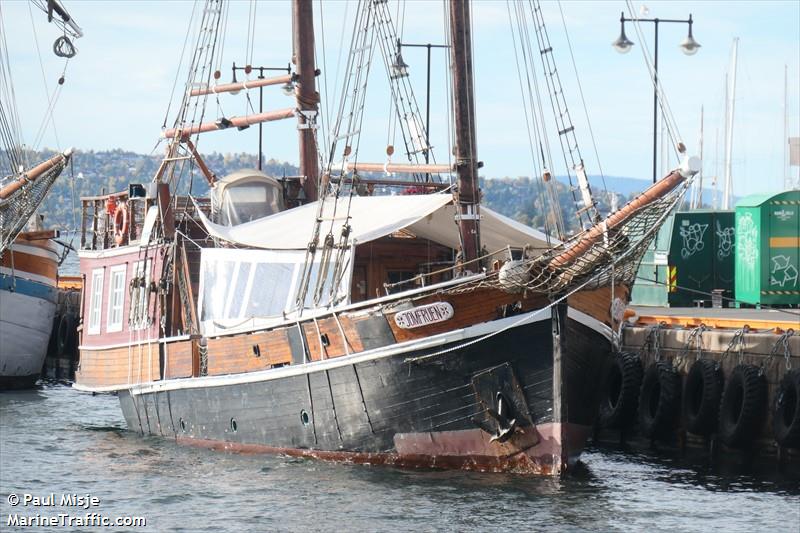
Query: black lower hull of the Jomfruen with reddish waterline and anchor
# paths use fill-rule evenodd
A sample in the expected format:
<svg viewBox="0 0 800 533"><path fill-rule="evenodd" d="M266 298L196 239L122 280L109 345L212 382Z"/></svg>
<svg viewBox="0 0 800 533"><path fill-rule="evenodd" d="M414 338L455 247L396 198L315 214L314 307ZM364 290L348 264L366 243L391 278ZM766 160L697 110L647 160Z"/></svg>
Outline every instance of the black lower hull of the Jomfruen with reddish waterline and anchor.
<svg viewBox="0 0 800 533"><path fill-rule="evenodd" d="M170 380L120 391L119 398L131 430L190 445L559 473L591 431L610 344L601 327L569 318L554 356L554 324L545 316L424 349L394 346L252 374Z"/></svg>

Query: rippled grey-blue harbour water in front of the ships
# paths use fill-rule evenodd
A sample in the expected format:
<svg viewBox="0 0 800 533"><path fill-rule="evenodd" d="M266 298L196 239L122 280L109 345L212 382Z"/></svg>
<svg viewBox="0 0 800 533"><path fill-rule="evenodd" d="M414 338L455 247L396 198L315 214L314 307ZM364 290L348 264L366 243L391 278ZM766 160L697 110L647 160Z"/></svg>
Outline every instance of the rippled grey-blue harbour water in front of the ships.
<svg viewBox="0 0 800 533"><path fill-rule="evenodd" d="M146 518L128 531L800 530L800 480L773 467L593 449L565 479L408 472L218 453L124 428L113 396L0 393L0 530L14 530L9 513L67 512L11 507L12 493L88 493L99 506L71 514Z"/></svg>

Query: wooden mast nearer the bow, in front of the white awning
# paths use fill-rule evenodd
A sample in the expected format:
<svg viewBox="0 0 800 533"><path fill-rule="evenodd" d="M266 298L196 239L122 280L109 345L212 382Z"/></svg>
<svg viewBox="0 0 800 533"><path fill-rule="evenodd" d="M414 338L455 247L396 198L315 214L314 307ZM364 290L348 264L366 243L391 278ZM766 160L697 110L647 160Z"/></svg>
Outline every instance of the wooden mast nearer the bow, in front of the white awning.
<svg viewBox="0 0 800 533"><path fill-rule="evenodd" d="M456 169L458 172L458 217L464 261L480 253L478 218L478 160L475 147L475 100L472 84L472 35L470 3L450 2L450 54L453 69L453 107L456 128ZM478 269L475 265L474 270Z"/></svg>

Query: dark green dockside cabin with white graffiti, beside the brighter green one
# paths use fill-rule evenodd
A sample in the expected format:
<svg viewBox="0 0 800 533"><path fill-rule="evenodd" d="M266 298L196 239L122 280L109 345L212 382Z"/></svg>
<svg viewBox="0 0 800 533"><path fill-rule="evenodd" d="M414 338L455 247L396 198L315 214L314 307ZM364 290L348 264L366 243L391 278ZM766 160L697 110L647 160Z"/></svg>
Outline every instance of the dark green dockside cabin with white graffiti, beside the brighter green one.
<svg viewBox="0 0 800 533"><path fill-rule="evenodd" d="M733 298L735 243L733 211L675 213L667 258L669 305L710 302L712 291L720 290L727 307Z"/></svg>

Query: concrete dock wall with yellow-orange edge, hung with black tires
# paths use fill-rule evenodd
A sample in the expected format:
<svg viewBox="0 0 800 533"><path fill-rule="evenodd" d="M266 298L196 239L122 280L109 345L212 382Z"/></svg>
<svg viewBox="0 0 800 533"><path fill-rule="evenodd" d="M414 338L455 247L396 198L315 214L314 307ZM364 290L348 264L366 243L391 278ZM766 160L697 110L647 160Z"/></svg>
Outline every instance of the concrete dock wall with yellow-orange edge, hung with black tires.
<svg viewBox="0 0 800 533"><path fill-rule="evenodd" d="M676 383L680 384L681 390L678 392L681 396L675 401L682 403L680 409L676 406L676 420L668 435L640 441L649 440L653 444L655 440L660 440L681 447L705 446L711 453L777 454L781 460L787 457L793 461L800 460L800 449L780 446L773 430L781 382L791 369L800 369L800 311L638 306L632 310L636 316L631 317L622 330L621 351L638 357L645 373L656 362L666 362L678 375L675 379L679 379ZM765 382L766 398L760 402L760 419L750 431L747 445L729 447L718 442L716 419L714 429L709 427L706 435L687 431L686 402L690 400L682 396L685 394L689 370L701 358L716 363L716 368L721 370L721 383L725 386L737 365L753 365L759 379ZM619 431L601 429L598 433L600 440L620 437L636 440L642 437L641 411L648 408L653 410L655 406L642 405L642 402L652 403L653 400L652 397L646 399L644 392L641 394L636 407L637 420L632 420L628 427L616 428ZM781 416L786 417L785 412L781 411ZM793 416L796 420L797 415Z"/></svg>

